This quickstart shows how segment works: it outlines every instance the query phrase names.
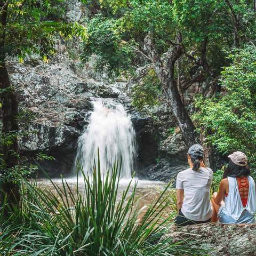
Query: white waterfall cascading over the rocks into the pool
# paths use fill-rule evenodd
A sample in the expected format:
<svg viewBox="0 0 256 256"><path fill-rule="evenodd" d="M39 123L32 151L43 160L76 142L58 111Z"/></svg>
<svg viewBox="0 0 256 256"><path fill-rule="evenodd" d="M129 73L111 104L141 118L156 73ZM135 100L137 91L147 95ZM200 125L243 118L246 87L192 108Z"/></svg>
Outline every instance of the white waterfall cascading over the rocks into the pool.
<svg viewBox="0 0 256 256"><path fill-rule="evenodd" d="M121 159L123 178L131 178L136 154L135 132L124 107L111 99L93 99L89 126L78 139L74 168L79 163L90 175L99 148L101 172L104 174L115 159Z"/></svg>

